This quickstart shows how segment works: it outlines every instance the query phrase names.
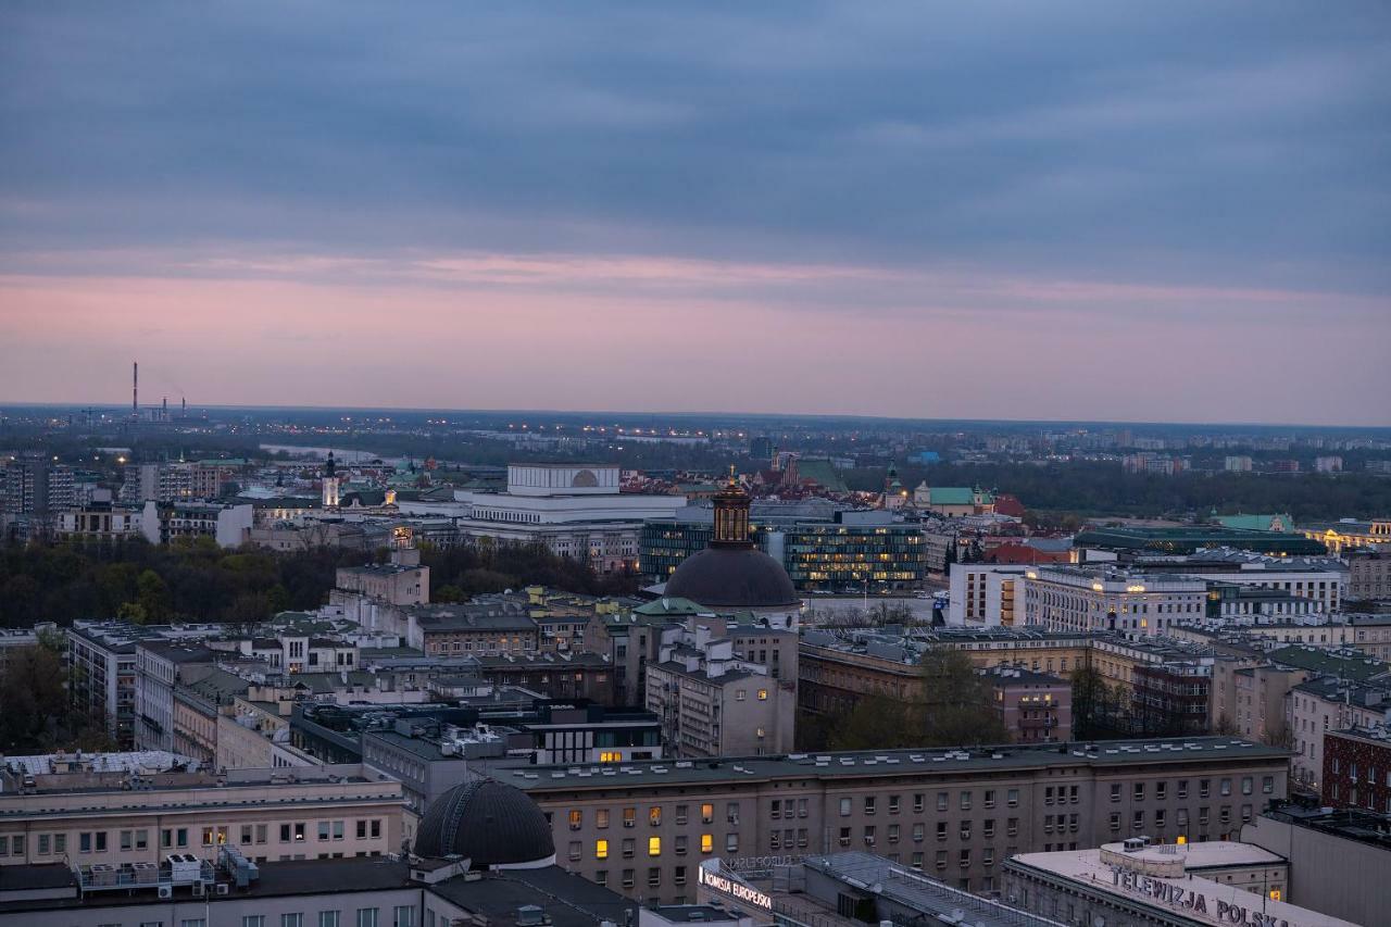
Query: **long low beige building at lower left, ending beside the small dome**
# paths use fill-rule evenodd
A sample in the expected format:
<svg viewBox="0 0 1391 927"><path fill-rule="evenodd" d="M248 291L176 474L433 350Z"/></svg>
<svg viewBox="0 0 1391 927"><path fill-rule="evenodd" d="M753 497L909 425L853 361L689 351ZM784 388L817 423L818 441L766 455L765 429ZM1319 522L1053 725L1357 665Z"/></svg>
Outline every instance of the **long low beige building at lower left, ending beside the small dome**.
<svg viewBox="0 0 1391 927"><path fill-rule="evenodd" d="M363 766L102 772L7 770L0 866L377 856L401 849L401 784Z"/></svg>

